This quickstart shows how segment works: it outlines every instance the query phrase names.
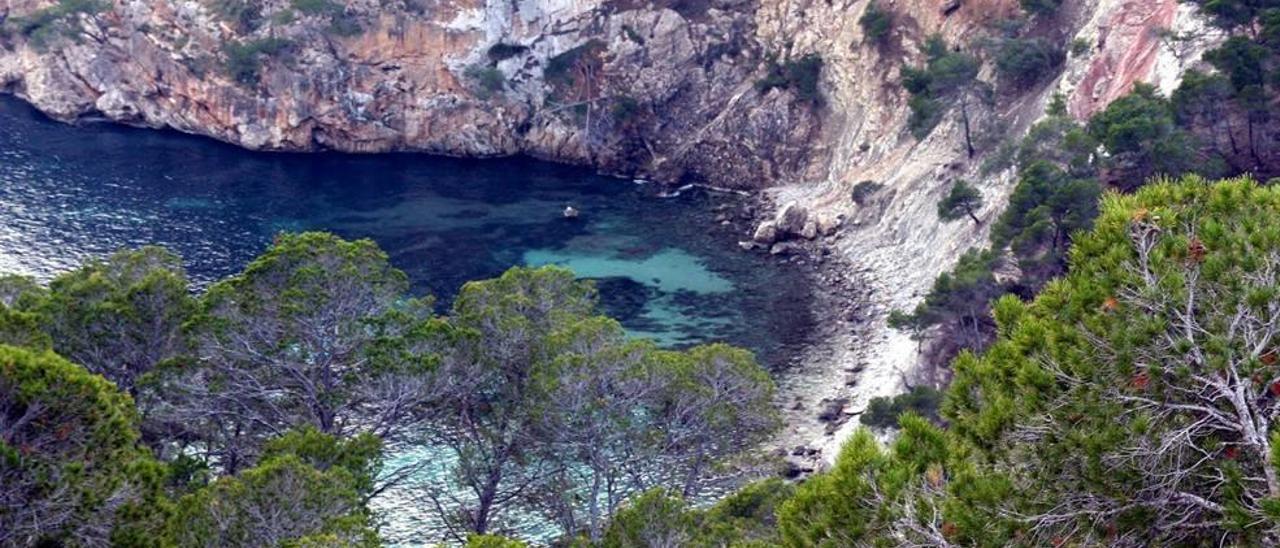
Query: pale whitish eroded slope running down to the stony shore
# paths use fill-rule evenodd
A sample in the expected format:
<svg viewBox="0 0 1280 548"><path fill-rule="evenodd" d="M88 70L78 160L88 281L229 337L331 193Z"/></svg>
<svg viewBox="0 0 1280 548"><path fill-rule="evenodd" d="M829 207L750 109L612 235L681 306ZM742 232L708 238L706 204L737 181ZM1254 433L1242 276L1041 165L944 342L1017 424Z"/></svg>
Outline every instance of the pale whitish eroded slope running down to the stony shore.
<svg viewBox="0 0 1280 548"><path fill-rule="evenodd" d="M1088 51L1071 55L1060 74L1047 76L1038 87L998 100L984 115L988 143L970 159L957 115L947 117L922 141L904 131L909 109L896 85L899 67L919 58L915 51L931 31L952 44L974 41L987 24L1016 13L1018 1L896 3L893 9L915 17L897 31L902 33L896 42L900 47L884 55L868 47L847 49L864 40L856 22L865 4L842 8L812 3L799 10L805 17L797 27L806 29L800 36L815 47L828 47L824 55L831 59L833 114L824 125L831 161L822 178L767 191L778 204L806 204L814 214L846 219L846 228L831 246L870 286L873 297L865 306L869 325L833 330L833 346L818 350L818 357L808 361L810 373L799 375L792 388L805 394L806 408L841 402L847 417L876 396L901 392L916 373L918 344L888 328L888 312L913 309L938 274L965 250L984 243L1007 202L1014 173L1005 169L983 175L983 160L1001 142L1024 134L1055 92L1065 93L1071 114L1080 119L1126 93L1134 82L1157 83L1167 93L1220 40L1192 8L1176 0L1066 3L1057 24L1071 41L1087 44ZM959 8L945 15L951 5ZM1174 44L1161 40L1161 31L1193 40ZM989 65L980 78L993 78ZM937 202L956 179L970 181L982 191L980 225L938 219ZM851 198L860 182L879 186L861 204ZM856 375L854 385L832 382L850 374ZM835 458L840 443L858 426L856 420L849 420L831 434L831 428L812 414L797 419L795 438L787 442L818 449L814 460Z"/></svg>

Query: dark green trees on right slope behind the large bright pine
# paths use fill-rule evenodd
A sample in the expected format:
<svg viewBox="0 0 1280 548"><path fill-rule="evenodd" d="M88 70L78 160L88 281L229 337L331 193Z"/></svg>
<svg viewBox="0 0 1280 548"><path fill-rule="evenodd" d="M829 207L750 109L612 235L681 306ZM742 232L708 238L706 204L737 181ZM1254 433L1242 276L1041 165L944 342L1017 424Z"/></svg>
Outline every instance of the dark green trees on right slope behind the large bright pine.
<svg viewBox="0 0 1280 548"><path fill-rule="evenodd" d="M1092 225L1105 189L1129 192L1152 177L1183 173L1280 173L1280 147L1262 134L1277 119L1272 73L1280 67L1280 31L1272 27L1280 28L1280 9L1243 0L1199 4L1234 35L1204 55L1213 73L1189 72L1170 97L1135 85L1083 127L1059 99L1021 143L997 155L1014 160L1019 183L992 229L989 251L966 255L914 312L893 318L927 339L929 367L946 369L961 350L992 341L987 302L1006 293L1030 297L1066 270L1071 236Z"/></svg>

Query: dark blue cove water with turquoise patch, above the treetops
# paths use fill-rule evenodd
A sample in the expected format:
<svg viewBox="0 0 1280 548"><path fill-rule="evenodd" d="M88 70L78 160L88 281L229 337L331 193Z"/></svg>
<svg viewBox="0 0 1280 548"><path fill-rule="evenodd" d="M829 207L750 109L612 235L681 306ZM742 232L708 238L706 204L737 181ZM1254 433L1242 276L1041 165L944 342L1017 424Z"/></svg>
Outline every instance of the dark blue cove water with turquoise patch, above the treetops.
<svg viewBox="0 0 1280 548"><path fill-rule="evenodd" d="M141 245L180 254L198 284L238 271L282 230L372 238L416 289L448 302L512 265L563 264L605 310L668 346L728 341L769 365L804 342L808 289L712 223L733 196L657 188L527 159L248 152L108 124L70 127L0 96L0 271L47 279ZM582 211L567 220L561 211Z"/></svg>

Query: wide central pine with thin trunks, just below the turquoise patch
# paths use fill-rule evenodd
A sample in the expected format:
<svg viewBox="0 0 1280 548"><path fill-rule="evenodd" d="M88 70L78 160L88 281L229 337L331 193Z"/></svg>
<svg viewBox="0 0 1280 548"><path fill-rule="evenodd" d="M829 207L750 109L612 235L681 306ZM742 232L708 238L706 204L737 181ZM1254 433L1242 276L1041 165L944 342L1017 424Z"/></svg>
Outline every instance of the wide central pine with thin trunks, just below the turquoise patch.
<svg viewBox="0 0 1280 548"><path fill-rule="evenodd" d="M750 352L628 341L595 298L567 270L517 268L463 286L429 333L442 389L428 442L451 451L449 474L475 501L445 516L458 528L490 530L518 506L599 539L627 499L658 487L695 496L712 467L776 429L773 384Z"/></svg>

